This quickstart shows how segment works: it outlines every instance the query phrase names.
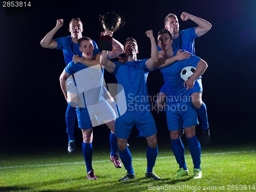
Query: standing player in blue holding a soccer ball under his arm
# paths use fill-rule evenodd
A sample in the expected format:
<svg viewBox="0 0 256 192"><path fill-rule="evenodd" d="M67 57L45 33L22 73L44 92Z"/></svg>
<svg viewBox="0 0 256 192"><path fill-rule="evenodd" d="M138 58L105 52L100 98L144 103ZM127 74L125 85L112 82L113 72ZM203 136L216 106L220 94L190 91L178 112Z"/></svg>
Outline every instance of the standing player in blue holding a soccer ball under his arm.
<svg viewBox="0 0 256 192"><path fill-rule="evenodd" d="M158 45L162 49L163 58L159 58L157 67L163 74L166 84L166 116L172 150L179 164L175 179L188 175L185 162L185 148L180 138L184 127L188 147L194 164L194 179L202 177L201 145L196 136L197 112L191 101L195 81L204 73L207 63L201 58L191 55L188 59L173 62L179 50L172 48L172 35L167 29L158 32ZM185 82L180 77L180 71L186 66L193 66L196 71Z"/></svg>

